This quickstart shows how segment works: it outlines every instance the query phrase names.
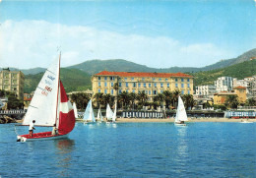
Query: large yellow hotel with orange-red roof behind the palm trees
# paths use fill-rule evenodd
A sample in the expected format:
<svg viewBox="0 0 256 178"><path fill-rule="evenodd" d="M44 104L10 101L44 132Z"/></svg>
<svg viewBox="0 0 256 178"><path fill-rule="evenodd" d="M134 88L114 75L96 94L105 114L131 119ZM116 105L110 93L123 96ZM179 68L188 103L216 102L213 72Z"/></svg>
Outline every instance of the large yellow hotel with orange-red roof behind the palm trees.
<svg viewBox="0 0 256 178"><path fill-rule="evenodd" d="M114 88L115 83L118 89ZM94 94L102 92L117 95L122 91L139 93L145 91L150 101L164 90L180 90L193 94L193 77L183 73L141 73L102 71L92 77Z"/></svg>

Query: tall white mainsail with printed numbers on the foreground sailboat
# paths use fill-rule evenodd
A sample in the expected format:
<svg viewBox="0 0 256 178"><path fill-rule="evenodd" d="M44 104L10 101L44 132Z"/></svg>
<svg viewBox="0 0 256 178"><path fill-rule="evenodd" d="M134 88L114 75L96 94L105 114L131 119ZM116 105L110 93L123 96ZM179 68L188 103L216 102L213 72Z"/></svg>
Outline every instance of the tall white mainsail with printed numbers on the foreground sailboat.
<svg viewBox="0 0 256 178"><path fill-rule="evenodd" d="M45 71L34 91L23 125L53 126L56 122L57 93L59 89L59 60Z"/></svg>

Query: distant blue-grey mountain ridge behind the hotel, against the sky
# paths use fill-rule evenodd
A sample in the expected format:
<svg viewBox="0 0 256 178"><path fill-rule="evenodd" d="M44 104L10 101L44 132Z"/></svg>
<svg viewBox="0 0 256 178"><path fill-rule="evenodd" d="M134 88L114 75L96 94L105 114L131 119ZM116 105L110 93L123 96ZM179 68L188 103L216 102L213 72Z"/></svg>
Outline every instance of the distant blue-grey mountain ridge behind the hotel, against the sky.
<svg viewBox="0 0 256 178"><path fill-rule="evenodd" d="M116 72L158 72L158 73L195 73L200 71L209 71L214 69L221 69L244 61L249 61L251 57L256 56L256 48L243 53L237 58L222 60L216 64L206 66L203 68L191 67L170 67L170 68L150 68L145 65L136 64L123 59L110 59L110 60L90 60L68 67L68 69L79 69L91 75L101 71L116 71Z"/></svg>

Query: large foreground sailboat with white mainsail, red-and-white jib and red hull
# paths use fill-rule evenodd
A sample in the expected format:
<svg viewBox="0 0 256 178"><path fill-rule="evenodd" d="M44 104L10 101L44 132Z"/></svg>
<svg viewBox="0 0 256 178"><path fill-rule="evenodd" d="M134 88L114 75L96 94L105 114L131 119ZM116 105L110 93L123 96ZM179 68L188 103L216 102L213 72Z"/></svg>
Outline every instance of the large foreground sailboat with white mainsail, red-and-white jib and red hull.
<svg viewBox="0 0 256 178"><path fill-rule="evenodd" d="M53 127L58 133L34 133L32 137L20 135L17 142L65 138L74 129L74 109L59 79L60 56L44 73L22 123L22 126L28 126L35 120L34 127Z"/></svg>

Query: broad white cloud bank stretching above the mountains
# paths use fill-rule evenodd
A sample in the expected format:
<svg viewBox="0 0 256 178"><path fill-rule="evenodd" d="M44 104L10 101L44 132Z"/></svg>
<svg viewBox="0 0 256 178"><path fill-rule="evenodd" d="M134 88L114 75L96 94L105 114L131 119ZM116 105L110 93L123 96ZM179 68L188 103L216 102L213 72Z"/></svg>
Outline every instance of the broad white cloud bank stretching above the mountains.
<svg viewBox="0 0 256 178"><path fill-rule="evenodd" d="M65 26L45 21L5 21L0 26L0 67L47 67L58 57L62 66L89 59L126 59L149 67L202 67L229 53L212 43L185 45L170 37L149 37Z"/></svg>

